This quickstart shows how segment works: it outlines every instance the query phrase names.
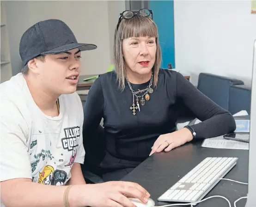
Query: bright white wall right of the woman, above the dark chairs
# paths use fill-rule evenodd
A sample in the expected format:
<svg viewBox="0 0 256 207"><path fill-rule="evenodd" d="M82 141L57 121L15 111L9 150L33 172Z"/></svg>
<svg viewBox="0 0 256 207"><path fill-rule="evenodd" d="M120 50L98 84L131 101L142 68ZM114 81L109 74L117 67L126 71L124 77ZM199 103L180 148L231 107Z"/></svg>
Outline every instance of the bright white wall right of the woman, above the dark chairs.
<svg viewBox="0 0 256 207"><path fill-rule="evenodd" d="M256 14L250 1L174 2L176 68L197 84L201 72L251 82Z"/></svg>

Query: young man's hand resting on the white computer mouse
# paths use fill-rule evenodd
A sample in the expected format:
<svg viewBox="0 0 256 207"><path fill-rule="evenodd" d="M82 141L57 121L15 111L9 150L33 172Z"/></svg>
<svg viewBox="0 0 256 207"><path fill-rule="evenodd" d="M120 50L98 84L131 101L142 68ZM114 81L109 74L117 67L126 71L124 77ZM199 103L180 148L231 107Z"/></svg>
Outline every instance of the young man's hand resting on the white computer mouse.
<svg viewBox="0 0 256 207"><path fill-rule="evenodd" d="M83 188L86 189L85 203L91 207L135 207L128 197L138 198L146 203L150 196L146 189L131 182L113 181L86 184ZM81 190L83 189L80 189L80 192Z"/></svg>

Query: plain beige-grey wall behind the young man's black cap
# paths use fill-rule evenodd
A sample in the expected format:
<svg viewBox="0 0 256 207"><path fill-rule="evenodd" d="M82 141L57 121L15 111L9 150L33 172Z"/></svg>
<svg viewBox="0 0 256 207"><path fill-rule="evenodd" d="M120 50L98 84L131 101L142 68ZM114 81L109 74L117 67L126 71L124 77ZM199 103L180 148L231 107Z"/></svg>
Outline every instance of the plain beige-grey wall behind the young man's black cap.
<svg viewBox="0 0 256 207"><path fill-rule="evenodd" d="M78 42L94 43L97 49L82 52L81 74L106 72L110 65L108 1L5 1L12 75L20 72L19 41L31 25L49 18L64 21ZM118 18L118 15L117 17ZM112 49L112 47L111 47Z"/></svg>

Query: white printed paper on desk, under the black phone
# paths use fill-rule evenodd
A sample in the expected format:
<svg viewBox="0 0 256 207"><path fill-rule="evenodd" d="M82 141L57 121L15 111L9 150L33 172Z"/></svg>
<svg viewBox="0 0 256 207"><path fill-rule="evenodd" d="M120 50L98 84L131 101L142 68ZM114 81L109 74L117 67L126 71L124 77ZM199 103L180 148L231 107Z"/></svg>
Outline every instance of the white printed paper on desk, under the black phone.
<svg viewBox="0 0 256 207"><path fill-rule="evenodd" d="M249 143L226 140L223 138L223 136L219 136L219 137L205 139L202 143L202 147L249 150Z"/></svg>

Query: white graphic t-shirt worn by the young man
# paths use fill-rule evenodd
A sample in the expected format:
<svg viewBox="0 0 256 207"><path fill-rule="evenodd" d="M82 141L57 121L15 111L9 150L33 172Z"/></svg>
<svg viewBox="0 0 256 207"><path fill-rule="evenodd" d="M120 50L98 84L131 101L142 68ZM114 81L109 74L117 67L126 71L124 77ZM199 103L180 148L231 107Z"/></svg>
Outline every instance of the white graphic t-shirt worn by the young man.
<svg viewBox="0 0 256 207"><path fill-rule="evenodd" d="M59 105L59 116L43 114L21 73L0 85L0 181L65 185L73 163L84 163L81 100L61 95Z"/></svg>

